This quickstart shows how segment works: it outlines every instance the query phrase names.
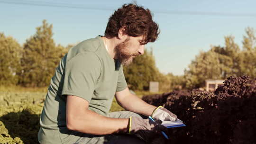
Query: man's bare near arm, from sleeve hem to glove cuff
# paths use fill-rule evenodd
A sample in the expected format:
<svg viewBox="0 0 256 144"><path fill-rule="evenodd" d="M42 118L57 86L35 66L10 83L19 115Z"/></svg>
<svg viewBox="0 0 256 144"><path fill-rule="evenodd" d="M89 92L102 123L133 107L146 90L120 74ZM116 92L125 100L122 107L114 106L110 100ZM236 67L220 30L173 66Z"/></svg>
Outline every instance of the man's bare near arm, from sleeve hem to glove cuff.
<svg viewBox="0 0 256 144"><path fill-rule="evenodd" d="M67 95L66 124L70 130L91 134L107 135L126 133L128 118L109 118L88 109L87 100Z"/></svg>

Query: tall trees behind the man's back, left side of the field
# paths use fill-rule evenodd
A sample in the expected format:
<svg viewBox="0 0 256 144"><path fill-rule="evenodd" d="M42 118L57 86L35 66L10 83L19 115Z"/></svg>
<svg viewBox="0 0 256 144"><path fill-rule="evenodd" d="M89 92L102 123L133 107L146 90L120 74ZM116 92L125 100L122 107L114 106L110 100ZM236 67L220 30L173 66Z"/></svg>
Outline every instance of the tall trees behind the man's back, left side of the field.
<svg viewBox="0 0 256 144"><path fill-rule="evenodd" d="M55 45L52 28L43 20L23 46L0 33L0 85L45 87L50 83L60 59L71 47Z"/></svg>

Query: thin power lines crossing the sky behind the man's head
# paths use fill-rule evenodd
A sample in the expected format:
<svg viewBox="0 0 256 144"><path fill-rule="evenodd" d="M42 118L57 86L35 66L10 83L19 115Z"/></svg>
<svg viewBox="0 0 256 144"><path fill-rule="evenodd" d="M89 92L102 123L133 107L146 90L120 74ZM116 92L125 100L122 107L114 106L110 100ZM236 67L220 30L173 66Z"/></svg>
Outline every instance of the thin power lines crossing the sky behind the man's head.
<svg viewBox="0 0 256 144"><path fill-rule="evenodd" d="M0 3L6 4L16 4L16 5L32 5L32 6L44 6L44 7L58 7L58 8L72 8L72 9L92 9L92 10L105 10L105 11L114 11L114 9L108 8L93 8L93 7L83 7L81 5L71 5L68 3L38 3L35 1L6 1L0 0ZM68 4L68 5L67 5ZM199 12L199 11L153 11L154 13L159 14L174 14L174 15L195 15L195 16L224 16L224 17L256 17L256 13L220 13L220 12Z"/></svg>

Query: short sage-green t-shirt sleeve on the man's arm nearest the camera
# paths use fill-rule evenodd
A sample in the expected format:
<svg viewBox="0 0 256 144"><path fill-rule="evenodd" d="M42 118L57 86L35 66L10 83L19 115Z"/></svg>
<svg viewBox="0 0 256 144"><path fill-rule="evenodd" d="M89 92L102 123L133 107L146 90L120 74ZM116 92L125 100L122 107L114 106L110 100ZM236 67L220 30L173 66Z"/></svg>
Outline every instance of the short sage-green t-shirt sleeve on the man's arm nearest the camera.
<svg viewBox="0 0 256 144"><path fill-rule="evenodd" d="M78 96L90 103L100 74L101 63L96 54L77 54L65 65L62 95Z"/></svg>

